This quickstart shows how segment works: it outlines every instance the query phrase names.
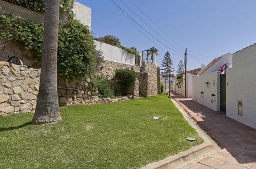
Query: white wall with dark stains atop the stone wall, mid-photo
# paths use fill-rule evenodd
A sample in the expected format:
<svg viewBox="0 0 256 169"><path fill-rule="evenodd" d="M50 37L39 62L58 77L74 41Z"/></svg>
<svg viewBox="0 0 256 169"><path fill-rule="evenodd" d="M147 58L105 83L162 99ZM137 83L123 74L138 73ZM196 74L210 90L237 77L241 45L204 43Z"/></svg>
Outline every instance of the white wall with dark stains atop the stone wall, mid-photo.
<svg viewBox="0 0 256 169"><path fill-rule="evenodd" d="M101 50L104 60L119 62L127 65L135 65L135 57L126 52L126 50L114 47L94 40L97 50Z"/></svg>

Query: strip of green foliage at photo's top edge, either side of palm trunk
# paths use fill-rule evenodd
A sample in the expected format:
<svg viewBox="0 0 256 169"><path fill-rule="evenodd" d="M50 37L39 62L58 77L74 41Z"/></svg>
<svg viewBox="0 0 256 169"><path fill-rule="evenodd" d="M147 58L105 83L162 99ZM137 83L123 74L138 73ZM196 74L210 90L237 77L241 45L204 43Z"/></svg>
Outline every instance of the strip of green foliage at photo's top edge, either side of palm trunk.
<svg viewBox="0 0 256 169"><path fill-rule="evenodd" d="M11 4L15 4L30 10L41 12L45 11L44 0L3 0ZM72 11L74 0L60 0L60 11L70 13Z"/></svg>

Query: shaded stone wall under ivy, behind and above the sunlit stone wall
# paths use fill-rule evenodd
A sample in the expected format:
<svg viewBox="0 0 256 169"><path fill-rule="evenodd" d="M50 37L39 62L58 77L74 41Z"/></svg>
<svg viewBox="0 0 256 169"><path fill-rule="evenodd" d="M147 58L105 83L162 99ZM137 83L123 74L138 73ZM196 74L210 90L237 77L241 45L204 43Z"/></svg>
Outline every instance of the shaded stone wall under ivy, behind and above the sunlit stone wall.
<svg viewBox="0 0 256 169"><path fill-rule="evenodd" d="M41 67L39 60L32 56L28 51L21 51L17 45L11 41L0 39L0 61L8 61L12 56L17 56L28 68L38 69Z"/></svg>

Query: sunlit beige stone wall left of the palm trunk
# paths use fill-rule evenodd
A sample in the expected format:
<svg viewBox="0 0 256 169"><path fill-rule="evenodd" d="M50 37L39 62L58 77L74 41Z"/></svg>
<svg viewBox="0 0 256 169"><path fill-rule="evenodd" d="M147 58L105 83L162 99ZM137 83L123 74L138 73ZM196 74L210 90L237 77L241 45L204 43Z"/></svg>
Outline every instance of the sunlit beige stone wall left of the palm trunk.
<svg viewBox="0 0 256 169"><path fill-rule="evenodd" d="M0 115L34 112L40 71L0 61Z"/></svg>

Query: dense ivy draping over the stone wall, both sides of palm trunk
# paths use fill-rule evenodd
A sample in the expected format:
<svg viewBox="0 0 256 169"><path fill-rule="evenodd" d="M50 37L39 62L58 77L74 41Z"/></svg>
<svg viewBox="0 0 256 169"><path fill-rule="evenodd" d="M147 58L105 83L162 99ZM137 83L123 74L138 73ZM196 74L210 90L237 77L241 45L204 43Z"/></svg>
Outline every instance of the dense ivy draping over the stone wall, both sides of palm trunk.
<svg viewBox="0 0 256 169"><path fill-rule="evenodd" d="M13 41L19 48L41 59L42 23L24 22L22 17L0 17L0 38ZM90 76L95 72L97 51L88 26L78 20L61 22L58 30L57 68L61 77Z"/></svg>

